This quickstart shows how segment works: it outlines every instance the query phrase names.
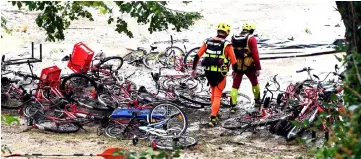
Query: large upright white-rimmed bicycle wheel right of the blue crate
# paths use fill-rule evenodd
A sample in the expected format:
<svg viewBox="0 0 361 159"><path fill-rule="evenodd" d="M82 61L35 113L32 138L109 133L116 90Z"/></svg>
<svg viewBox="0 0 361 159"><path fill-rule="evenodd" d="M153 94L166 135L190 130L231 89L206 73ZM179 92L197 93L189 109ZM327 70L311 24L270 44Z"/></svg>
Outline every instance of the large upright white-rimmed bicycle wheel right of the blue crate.
<svg viewBox="0 0 361 159"><path fill-rule="evenodd" d="M161 122L165 123L157 124L156 128L167 130L171 136L185 133L188 127L187 116L185 113L179 106L170 102L157 104L149 112L148 123Z"/></svg>

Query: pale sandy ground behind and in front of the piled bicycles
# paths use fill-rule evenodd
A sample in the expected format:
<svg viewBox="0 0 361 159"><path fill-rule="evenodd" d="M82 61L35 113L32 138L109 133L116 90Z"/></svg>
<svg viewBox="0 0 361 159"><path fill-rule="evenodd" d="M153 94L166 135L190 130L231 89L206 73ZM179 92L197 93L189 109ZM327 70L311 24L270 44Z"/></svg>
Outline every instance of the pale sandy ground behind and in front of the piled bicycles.
<svg viewBox="0 0 361 159"><path fill-rule="evenodd" d="M226 6L221 8L221 6ZM242 6L244 9L239 9ZM71 53L73 45L79 41L85 42L95 52L103 50L108 56L124 55L128 52L126 48L137 46L149 47L152 42L165 41L172 34L175 39L188 39L188 48L199 46L201 42L215 33L215 27L220 22L226 21L231 24L232 33L239 30L243 21L251 20L257 25L257 33L264 37L273 39L287 39L294 37L299 42L332 42L335 38L342 37L344 27L340 21L340 15L334 11L334 2L292 2L282 1L279 3L260 2L192 2L188 5L171 2L171 8L182 8L187 11L200 11L204 18L196 21L195 26L189 30L175 33L168 30L150 35L146 27L136 25L136 21L130 20L129 28L133 31L135 38L129 39L114 31L114 24L103 25L106 16L95 16L95 22L79 20L71 25L66 31L66 40L60 42L45 42L44 32L40 31L34 23L36 12L26 10L17 11L8 3L1 5L1 13L8 19L9 27L14 31L11 35L4 35L1 39L1 54L7 58L28 57L30 54L30 42L43 43L44 60L42 63L34 64L34 73L40 74L44 67L57 65L62 74L71 73L66 68L66 62L60 59ZM323 14L319 14L319 13ZM119 13L114 13L119 14ZM239 15L234 16L234 15ZM129 19L127 15L121 15ZM335 27L340 24L340 27ZM23 29L26 26L26 31ZM86 29L90 28L90 29ZM305 33L309 28L312 34ZM2 32L3 35L3 32ZM168 44L161 44L160 49ZM183 44L177 44L182 46ZM37 52L36 50L35 52ZM25 53L24 53L25 52ZM339 55L340 56L340 55ZM322 55L305 58L290 58L263 60L262 71L259 82L263 88L266 81L278 74L281 89L285 89L289 82L295 82L306 78L306 74L296 74L296 70L310 66L315 74L323 71L333 71L338 61L333 55ZM27 71L24 65L12 66L11 69ZM154 88L150 80L149 70L125 65L126 74L138 70L139 74L133 80L137 84ZM154 71L154 70L153 70ZM139 78L142 77L142 78ZM144 80L149 79L149 80ZM231 87L232 79L228 78L226 90ZM244 78L240 92L252 97L250 82ZM196 114L201 117L200 122L208 118L209 110ZM257 134L244 133L235 136L221 136L225 132L223 128L204 129L198 127L198 122L189 121L189 134L199 139L199 145L192 150L185 150L182 158L313 158L305 146L295 142L287 143L282 138L270 135L266 129L260 129ZM23 122L22 122L23 123ZM18 153L100 153L108 147L126 147L132 150L146 150L146 144L132 146L128 141L118 141L97 136L95 128L88 128L89 133L83 131L71 135L59 135L44 133L37 130L23 132L26 127L8 127L2 124L1 143L8 145L13 152ZM85 157L90 158L90 157ZM96 158L96 157L94 157Z"/></svg>

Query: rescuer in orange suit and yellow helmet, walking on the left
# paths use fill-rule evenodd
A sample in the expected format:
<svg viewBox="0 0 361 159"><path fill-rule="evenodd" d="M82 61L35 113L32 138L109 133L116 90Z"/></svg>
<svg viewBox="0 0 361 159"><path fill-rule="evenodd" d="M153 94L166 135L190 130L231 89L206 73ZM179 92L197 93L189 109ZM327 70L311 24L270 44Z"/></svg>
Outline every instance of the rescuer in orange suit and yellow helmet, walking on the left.
<svg viewBox="0 0 361 159"><path fill-rule="evenodd" d="M218 121L218 111L220 108L220 98L223 89L226 86L226 75L229 71L229 64L236 64L236 59L233 52L231 42L225 40L230 32L228 24L221 23L218 25L217 36L208 38L204 41L202 47L199 49L194 58L192 76L195 75L195 70L200 57L205 54L202 61L202 66L205 70L205 75L211 87L211 103L212 112L209 122L210 126L215 126Z"/></svg>

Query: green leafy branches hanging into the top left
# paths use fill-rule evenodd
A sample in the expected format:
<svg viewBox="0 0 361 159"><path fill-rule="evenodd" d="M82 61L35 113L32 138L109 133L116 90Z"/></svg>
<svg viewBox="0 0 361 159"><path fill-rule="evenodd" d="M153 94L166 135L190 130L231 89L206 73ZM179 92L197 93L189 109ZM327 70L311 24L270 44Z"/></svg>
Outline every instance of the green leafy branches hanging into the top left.
<svg viewBox="0 0 361 159"><path fill-rule="evenodd" d="M27 7L30 11L40 11L35 22L46 32L46 41L60 41L65 39L64 31L69 28L71 22L79 18L87 18L94 21L92 14L86 7L99 9L100 14L111 13L112 9L102 1L13 1L12 5ZM186 2L187 3L187 2ZM197 12L183 12L168 9L166 1L116 1L115 4L121 13L131 14L140 24L149 24L148 31L173 29L181 31L188 29L194 24L194 20L202 16ZM154 13L154 14L153 14ZM111 24L114 19L110 16L107 23ZM4 24L4 25L3 25ZM6 27L2 20L2 28ZM10 32L10 29L5 29ZM133 38L133 33L127 29L127 22L117 22L116 31Z"/></svg>

